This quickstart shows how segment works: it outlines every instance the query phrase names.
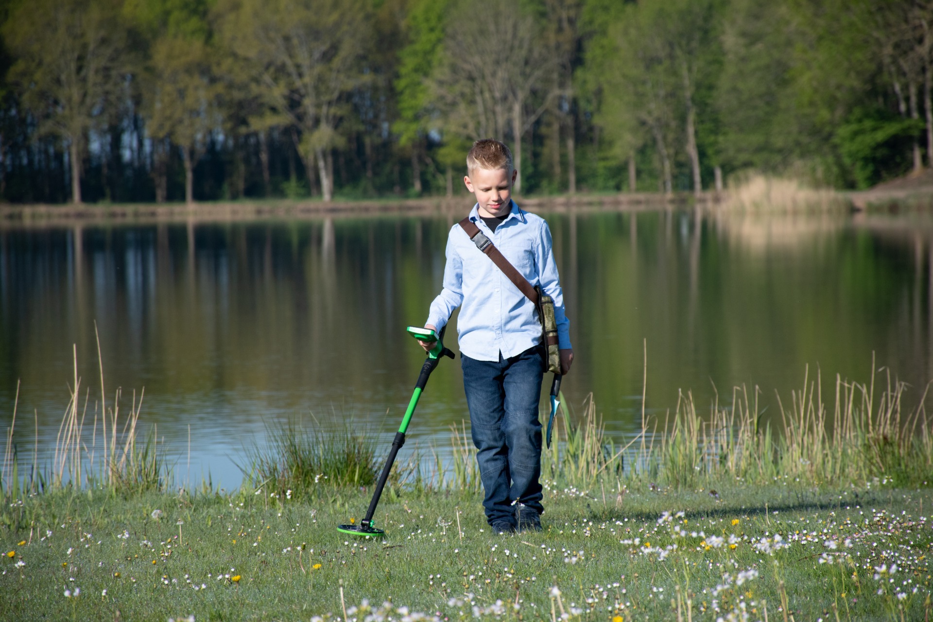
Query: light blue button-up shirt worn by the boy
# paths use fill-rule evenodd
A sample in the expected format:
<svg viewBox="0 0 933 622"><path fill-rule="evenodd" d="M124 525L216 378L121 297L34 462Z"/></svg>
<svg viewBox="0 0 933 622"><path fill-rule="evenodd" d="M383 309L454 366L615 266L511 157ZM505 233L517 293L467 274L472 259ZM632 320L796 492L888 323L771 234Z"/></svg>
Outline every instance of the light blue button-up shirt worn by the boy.
<svg viewBox="0 0 933 622"><path fill-rule="evenodd" d="M515 201L495 232L480 218L477 205L469 218L528 283L540 285L554 299L559 347L570 348L570 321L564 313L564 293L547 221L522 211ZM460 352L480 361L498 361L500 352L505 358L515 356L541 342L535 305L476 247L459 224L447 236L446 255L444 287L431 303L426 324L440 330L462 304L457 320Z"/></svg>

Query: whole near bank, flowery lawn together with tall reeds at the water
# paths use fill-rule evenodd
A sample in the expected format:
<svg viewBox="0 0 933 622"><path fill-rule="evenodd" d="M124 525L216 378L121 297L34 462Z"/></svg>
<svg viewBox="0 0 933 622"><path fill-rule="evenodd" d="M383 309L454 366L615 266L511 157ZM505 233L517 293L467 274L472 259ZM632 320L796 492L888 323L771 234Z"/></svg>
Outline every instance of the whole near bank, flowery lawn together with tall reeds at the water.
<svg viewBox="0 0 933 622"><path fill-rule="evenodd" d="M681 394L623 447L591 396L542 456L544 531L510 536L485 524L462 423L449 471L399 465L377 542L334 529L369 504L367 435L289 423L239 491L170 491L155 436L137 446L139 400L89 417L76 374L48 473L20 476L8 430L0 618L928 619L926 393L908 408L880 378L837 377L824 400L805 374L779 430L757 389L705 416Z"/></svg>

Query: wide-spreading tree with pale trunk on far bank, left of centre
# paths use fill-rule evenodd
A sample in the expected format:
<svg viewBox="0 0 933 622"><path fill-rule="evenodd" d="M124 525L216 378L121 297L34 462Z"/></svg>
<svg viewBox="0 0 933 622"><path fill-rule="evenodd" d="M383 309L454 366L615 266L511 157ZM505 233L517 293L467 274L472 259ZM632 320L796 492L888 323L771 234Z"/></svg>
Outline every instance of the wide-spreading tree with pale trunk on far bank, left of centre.
<svg viewBox="0 0 933 622"><path fill-rule="evenodd" d="M333 198L332 149L345 95L363 80L358 62L369 29L362 0L220 0L220 34L244 58L259 94L297 131L293 140L309 180L314 166L324 200Z"/></svg>

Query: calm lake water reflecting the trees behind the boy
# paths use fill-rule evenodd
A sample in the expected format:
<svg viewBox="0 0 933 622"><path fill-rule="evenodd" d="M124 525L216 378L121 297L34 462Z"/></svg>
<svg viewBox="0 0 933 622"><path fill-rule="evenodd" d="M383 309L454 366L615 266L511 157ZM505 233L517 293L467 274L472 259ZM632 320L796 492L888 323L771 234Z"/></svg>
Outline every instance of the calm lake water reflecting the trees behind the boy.
<svg viewBox="0 0 933 622"><path fill-rule="evenodd" d="M466 209L466 208L465 208ZM703 215L691 210L543 211L564 283L576 363L564 394L592 392L619 439L692 391L704 411L733 386L758 386L777 411L818 367L870 379L886 366L933 379L933 224L897 214ZM238 464L268 426L352 422L387 447L423 352L404 326L425 322L444 243L459 214L334 216L230 223L0 228L0 423L48 464L74 383L73 344L91 430L108 402L145 388L180 481L241 481ZM455 319L454 319L455 322ZM456 350L453 331L448 344ZM548 383L546 382L546 385ZM83 397L82 397L83 405ZM108 403L108 408L110 404ZM466 419L456 362L444 359L409 430L449 455ZM91 435L88 441L91 442ZM96 438L100 443L100 438ZM89 446L90 447L90 446Z"/></svg>

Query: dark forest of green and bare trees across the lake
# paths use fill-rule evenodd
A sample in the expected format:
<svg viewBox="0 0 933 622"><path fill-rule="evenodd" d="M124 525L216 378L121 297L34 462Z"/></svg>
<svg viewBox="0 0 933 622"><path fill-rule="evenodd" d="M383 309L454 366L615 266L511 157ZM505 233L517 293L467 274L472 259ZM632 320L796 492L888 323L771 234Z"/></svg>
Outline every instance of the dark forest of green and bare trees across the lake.
<svg viewBox="0 0 933 622"><path fill-rule="evenodd" d="M0 0L0 200L869 187L930 166L933 2Z"/></svg>

